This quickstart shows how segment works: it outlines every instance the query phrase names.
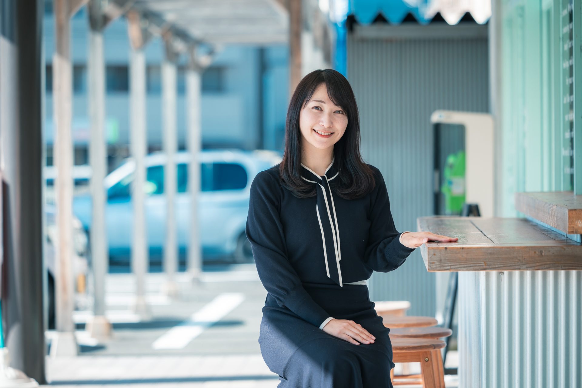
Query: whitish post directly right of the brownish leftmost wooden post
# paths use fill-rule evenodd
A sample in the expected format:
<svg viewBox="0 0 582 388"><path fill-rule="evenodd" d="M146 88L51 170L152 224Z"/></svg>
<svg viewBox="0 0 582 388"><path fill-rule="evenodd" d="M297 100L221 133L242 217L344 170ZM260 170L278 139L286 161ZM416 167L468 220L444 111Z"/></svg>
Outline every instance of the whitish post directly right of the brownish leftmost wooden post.
<svg viewBox="0 0 582 388"><path fill-rule="evenodd" d="M101 12L97 9L97 12ZM91 261L94 276L93 317L87 322L90 335L100 341L111 337L111 322L105 316L105 276L109 267L109 250L105 225L107 195L103 182L107 175L107 144L105 142L105 62L101 29L89 31L88 110L91 118Z"/></svg>

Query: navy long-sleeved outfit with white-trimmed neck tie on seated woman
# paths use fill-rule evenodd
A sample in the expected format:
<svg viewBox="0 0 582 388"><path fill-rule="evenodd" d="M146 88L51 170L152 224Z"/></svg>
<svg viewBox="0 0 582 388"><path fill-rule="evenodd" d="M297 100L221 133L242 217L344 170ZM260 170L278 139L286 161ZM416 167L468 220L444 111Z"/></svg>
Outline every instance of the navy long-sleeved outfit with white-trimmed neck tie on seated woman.
<svg viewBox="0 0 582 388"><path fill-rule="evenodd" d="M301 165L317 196L297 198L279 183L279 165L250 188L246 234L267 298L258 342L279 388L392 387L392 345L365 280L398 268L414 248L399 241L382 174L355 200L335 194L335 159L324 176ZM356 283L356 284L349 284ZM358 345L320 329L349 319L375 341Z"/></svg>

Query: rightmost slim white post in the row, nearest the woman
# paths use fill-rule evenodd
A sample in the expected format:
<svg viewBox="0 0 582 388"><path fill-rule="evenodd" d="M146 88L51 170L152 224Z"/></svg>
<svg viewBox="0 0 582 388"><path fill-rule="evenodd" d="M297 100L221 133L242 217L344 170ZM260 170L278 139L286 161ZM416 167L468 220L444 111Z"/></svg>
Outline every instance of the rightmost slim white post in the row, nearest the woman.
<svg viewBox="0 0 582 388"><path fill-rule="evenodd" d="M190 63L186 72L186 114L190 166L188 168L188 191L190 193L190 234L188 248L188 272L191 280L200 280L202 272L202 252L200 248L200 230L198 229L198 193L200 193L200 161L201 151L201 77L202 69L196 62L196 47L191 48Z"/></svg>

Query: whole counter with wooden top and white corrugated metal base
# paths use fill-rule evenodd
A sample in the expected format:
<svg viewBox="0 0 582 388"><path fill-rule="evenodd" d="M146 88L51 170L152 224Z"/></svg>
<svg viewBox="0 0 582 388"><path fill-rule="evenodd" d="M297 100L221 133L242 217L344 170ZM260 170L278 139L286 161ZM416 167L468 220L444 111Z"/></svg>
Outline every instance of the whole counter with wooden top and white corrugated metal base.
<svg viewBox="0 0 582 388"><path fill-rule="evenodd" d="M459 386L582 387L582 244L531 219L418 218L429 271L459 271Z"/></svg>

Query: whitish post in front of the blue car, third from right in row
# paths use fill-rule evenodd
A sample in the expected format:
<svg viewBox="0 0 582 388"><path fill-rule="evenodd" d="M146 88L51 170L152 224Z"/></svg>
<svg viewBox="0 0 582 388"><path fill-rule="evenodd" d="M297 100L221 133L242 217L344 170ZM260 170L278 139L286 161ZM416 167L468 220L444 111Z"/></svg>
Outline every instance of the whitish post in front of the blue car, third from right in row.
<svg viewBox="0 0 582 388"><path fill-rule="evenodd" d="M145 122L145 55L143 49L132 49L130 67L130 149L136 163L136 175L133 180L133 245L132 270L136 276L136 301L134 312L142 320L150 318L150 308L145 301L144 278L148 268L148 244L145 219L145 163L147 151L147 124Z"/></svg>

